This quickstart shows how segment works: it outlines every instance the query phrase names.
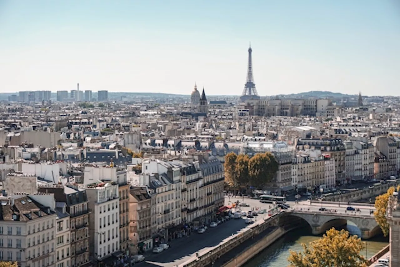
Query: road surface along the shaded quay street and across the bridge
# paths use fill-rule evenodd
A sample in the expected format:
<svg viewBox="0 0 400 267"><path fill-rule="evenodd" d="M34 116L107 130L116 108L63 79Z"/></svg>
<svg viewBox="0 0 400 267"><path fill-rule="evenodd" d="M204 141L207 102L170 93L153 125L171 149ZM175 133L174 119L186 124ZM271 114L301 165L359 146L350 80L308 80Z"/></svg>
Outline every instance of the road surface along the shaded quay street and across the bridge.
<svg viewBox="0 0 400 267"><path fill-rule="evenodd" d="M234 198L234 197L225 197L225 205L231 205L233 202L239 200L243 202L242 198ZM248 203L250 207L240 207L241 211L248 211L252 208L259 207L261 209L266 209L267 211L272 207L272 204L269 203L260 203L258 199L249 199L244 198L244 202ZM290 205L290 209L302 209L305 211L316 211L320 212L319 209L321 207L320 203L312 203L310 205L310 201L300 201L299 203L295 203L294 201L288 201L287 204ZM351 211L346 211L347 205L344 207L338 207L337 204L324 204L322 207L326 209L336 209L338 213L351 214ZM354 208L359 208L361 213L355 213L357 215L370 215L370 207L365 206L352 206ZM263 221L268 218L268 214L260 214L257 217L254 217L254 221ZM200 255L205 253L210 248L219 245L224 242L224 239L232 237L232 235L236 233L240 233L242 231L247 231L251 227L251 225L246 225L244 223L244 219L231 219L218 225L217 227L209 227L205 233L198 234L195 231L192 235L188 237L182 237L180 239L174 240L170 242L171 247L162 251L161 253L155 254L150 253L146 255L146 261L142 263L138 263L135 266L164 266L164 267L175 267L176 265L180 265L185 263L191 258L196 256L196 252L199 252Z"/></svg>

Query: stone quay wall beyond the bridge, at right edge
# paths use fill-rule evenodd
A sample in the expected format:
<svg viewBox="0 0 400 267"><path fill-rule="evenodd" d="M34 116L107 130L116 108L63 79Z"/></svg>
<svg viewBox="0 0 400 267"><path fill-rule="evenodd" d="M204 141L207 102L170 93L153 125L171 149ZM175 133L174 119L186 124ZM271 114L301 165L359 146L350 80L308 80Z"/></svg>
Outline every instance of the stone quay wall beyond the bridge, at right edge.
<svg viewBox="0 0 400 267"><path fill-rule="evenodd" d="M372 197L376 197L378 195L382 195L388 191L389 187L396 187L400 184L400 181L386 183L383 185L377 185L373 188L364 188L356 191L350 191L348 193L343 194L335 194L331 196L324 197L325 201L335 201L335 202L357 202L361 199L369 199Z"/></svg>

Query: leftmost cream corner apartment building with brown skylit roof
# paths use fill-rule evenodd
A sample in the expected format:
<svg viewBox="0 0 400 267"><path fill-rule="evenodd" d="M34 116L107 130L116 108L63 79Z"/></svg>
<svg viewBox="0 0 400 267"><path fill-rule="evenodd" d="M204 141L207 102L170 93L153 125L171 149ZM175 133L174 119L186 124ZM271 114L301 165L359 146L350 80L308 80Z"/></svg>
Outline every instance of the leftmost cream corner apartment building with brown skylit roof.
<svg viewBox="0 0 400 267"><path fill-rule="evenodd" d="M55 267L54 209L25 194L1 199L1 205L0 261L18 261L21 267Z"/></svg>

